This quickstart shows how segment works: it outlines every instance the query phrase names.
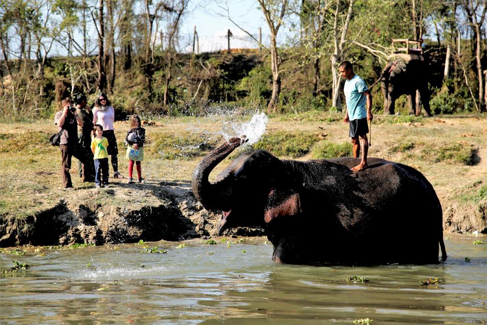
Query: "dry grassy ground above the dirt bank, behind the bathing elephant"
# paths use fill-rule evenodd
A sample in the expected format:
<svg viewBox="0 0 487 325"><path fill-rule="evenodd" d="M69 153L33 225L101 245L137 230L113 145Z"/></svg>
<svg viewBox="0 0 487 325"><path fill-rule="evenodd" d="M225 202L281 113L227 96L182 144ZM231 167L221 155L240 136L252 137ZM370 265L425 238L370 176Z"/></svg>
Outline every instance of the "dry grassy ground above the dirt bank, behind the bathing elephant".
<svg viewBox="0 0 487 325"><path fill-rule="evenodd" d="M338 114L323 113L322 117L318 118L319 116L315 112L303 116L271 118L267 124L266 137L260 144L262 147L270 144L266 148L275 147L275 152L281 154L293 152L289 148L283 151L279 141L276 142L282 134L304 135L286 142L288 147L294 145L310 148L309 143L300 143L299 139L316 139L317 134L320 141L324 139L328 143L340 145L350 143L348 127ZM193 170L201 157L224 141L219 134L223 123L239 119L250 120L250 117L213 116L156 120L156 125L146 126L148 142L143 176L154 184L161 180L191 180ZM48 143L49 136L56 131L52 121L0 122L0 127L0 215L31 215L52 207L66 196L59 188L59 149ZM123 141L128 123L117 122L115 127L120 150L120 170L126 175L127 160L124 158ZM270 140L266 142L265 139ZM199 145L202 142L205 144ZM398 118L376 115L372 124L371 142L369 156L398 161L417 168L433 184L440 199L469 182L487 178L487 150L484 148L487 143L486 116ZM322 145L320 150L327 150L327 147ZM311 158L312 148L305 156L297 159ZM465 161L469 161L470 165ZM226 164L227 162L220 164L211 177L215 177ZM78 178L76 159L73 159L72 167L72 179L78 191L71 195L94 187L94 184L82 183ZM110 182L120 183L125 180L111 178Z"/></svg>

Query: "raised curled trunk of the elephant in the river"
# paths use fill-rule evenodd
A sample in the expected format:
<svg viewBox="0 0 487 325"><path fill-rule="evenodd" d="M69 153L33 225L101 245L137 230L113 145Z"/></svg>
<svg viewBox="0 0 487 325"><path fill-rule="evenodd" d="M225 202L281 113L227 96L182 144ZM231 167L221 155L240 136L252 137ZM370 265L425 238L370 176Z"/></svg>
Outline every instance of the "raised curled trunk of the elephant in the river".
<svg viewBox="0 0 487 325"><path fill-rule="evenodd" d="M193 193L206 210L224 210L225 206L227 206L228 199L231 197L231 187L226 185L228 181L222 179L216 183L210 183L208 176L225 157L243 142L245 142L245 136L242 138L231 138L204 157L194 170L192 180Z"/></svg>

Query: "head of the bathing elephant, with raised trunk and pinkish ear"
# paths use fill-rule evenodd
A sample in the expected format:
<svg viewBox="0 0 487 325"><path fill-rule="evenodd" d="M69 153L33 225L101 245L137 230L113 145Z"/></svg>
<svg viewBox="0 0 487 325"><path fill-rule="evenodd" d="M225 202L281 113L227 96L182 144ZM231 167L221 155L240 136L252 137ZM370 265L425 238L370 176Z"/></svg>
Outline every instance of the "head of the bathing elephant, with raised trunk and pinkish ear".
<svg viewBox="0 0 487 325"><path fill-rule="evenodd" d="M208 181L211 171L245 141L245 136L230 139L204 157L193 174L198 201L208 211L223 212L218 235L237 225L261 226L300 209L299 195L279 185L281 179L289 183L284 161L264 150L240 154L214 183Z"/></svg>

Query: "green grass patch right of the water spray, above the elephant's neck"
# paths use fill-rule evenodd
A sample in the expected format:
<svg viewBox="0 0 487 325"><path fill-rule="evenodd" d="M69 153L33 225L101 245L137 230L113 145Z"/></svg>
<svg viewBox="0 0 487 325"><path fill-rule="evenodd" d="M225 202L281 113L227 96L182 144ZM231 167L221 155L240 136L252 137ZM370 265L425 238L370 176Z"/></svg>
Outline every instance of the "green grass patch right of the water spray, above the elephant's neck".
<svg viewBox="0 0 487 325"><path fill-rule="evenodd" d="M264 135L254 149L264 149L277 157L301 157L318 139L312 133L279 131Z"/></svg>

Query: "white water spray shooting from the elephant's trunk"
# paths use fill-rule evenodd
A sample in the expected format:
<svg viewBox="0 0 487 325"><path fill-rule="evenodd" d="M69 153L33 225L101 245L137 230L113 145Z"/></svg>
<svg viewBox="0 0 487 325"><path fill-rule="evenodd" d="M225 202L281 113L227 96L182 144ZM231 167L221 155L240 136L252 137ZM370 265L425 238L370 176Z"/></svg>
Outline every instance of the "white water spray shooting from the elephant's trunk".
<svg viewBox="0 0 487 325"><path fill-rule="evenodd" d="M260 137L264 134L268 120L269 118L264 112L257 112L252 116L250 122L247 123L234 121L224 122L220 134L227 141L230 138L245 135L249 139L247 144L251 145L259 141Z"/></svg>

